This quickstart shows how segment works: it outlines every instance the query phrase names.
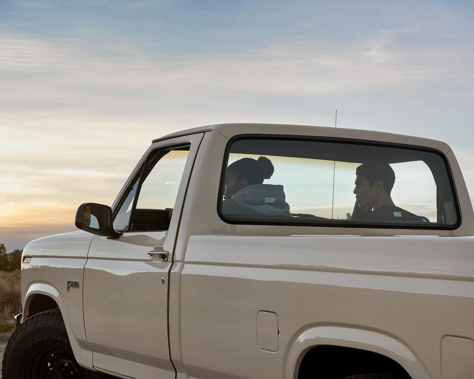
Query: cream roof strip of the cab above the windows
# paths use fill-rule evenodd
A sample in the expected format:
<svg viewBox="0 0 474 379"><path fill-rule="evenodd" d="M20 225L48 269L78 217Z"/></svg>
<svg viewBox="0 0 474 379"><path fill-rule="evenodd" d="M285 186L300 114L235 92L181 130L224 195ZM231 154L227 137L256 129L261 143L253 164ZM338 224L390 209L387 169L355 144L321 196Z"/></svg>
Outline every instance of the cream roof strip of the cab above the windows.
<svg viewBox="0 0 474 379"><path fill-rule="evenodd" d="M442 141L421 137L406 136L402 134L386 133L373 130L328 128L322 126L291 125L291 124L257 124L257 123L229 123L200 126L197 128L185 129L168 134L164 137L154 139L153 143L174 137L189 134L203 133L216 130L227 139L239 134L269 134L285 136L305 136L305 137L333 137L346 139L359 139L367 141L392 142L404 145L416 145L428 148L435 148L447 154L449 146Z"/></svg>

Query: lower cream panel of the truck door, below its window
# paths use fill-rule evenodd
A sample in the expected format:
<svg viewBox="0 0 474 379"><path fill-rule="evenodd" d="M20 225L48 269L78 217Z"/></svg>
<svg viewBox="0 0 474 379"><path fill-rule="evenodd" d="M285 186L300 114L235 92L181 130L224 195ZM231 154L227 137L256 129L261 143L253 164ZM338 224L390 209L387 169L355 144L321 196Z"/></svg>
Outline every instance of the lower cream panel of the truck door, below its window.
<svg viewBox="0 0 474 379"><path fill-rule="evenodd" d="M164 343L170 263L146 254L166 247L165 233L148 233L149 246L143 246L143 233L127 234L119 240L96 236L84 269L84 324L94 367L137 379L171 379Z"/></svg>

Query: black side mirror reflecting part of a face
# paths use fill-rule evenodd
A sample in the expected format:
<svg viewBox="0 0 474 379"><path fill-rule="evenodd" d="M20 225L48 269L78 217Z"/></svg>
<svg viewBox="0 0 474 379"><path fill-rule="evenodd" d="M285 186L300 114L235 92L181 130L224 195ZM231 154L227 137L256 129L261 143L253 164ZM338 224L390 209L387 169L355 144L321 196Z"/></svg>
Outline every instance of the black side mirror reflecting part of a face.
<svg viewBox="0 0 474 379"><path fill-rule="evenodd" d="M83 203L76 212L76 228L108 238L119 238L122 233L112 225L112 208L97 203Z"/></svg>

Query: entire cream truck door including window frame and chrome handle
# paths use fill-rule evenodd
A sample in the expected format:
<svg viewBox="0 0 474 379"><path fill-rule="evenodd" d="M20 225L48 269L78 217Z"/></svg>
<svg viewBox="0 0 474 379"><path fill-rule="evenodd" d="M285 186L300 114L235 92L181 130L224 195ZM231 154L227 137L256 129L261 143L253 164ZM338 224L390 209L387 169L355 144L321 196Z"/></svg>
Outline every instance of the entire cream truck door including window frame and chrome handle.
<svg viewBox="0 0 474 379"><path fill-rule="evenodd" d="M83 308L93 366L100 371L175 378L168 347L168 274L202 136L152 145L114 204L114 228L123 235L92 240Z"/></svg>

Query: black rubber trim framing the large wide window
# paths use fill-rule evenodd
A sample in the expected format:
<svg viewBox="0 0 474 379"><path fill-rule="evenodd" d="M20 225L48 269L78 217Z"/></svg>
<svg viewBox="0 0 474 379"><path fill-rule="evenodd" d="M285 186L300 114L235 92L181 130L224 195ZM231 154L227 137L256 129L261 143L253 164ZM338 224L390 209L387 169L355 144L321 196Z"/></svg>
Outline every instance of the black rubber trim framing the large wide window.
<svg viewBox="0 0 474 379"><path fill-rule="evenodd" d="M457 221L455 224L452 225L444 225L444 224L437 224L437 225L406 225L406 224L390 224L390 223L379 223L379 222L353 222L350 220L333 220L333 221L271 221L268 219L238 219L232 218L229 219L222 213L222 202L223 202L223 192L224 192L224 182L225 182L225 175L226 169L228 164L228 157L230 153L230 148L232 147L233 143L242 140L242 139L264 139L264 140L291 140L291 141L306 141L306 142L335 142L341 144L350 144L350 145L365 145L365 146L377 146L377 147L384 147L384 148L399 148L399 149L410 149L415 151L422 151L428 153L434 153L440 156L443 159L446 167L446 173L449 179L449 185L451 187L451 191L453 194L453 201L454 206L456 209L456 217ZM239 134L234 137L231 137L224 150L224 159L222 161L222 169L220 173L220 181L219 181L219 197L217 201L217 214L219 218L228 224L236 224L236 225L279 225L279 226L312 226L312 227L340 227L340 228L365 228L365 229L421 229L421 230L455 230L461 226L462 223L462 214L461 214L461 207L459 204L459 198L457 196L456 185L453 180L453 172L451 170L451 166L449 165L449 161L446 155L436 148L427 148L419 145L409 145L409 144L401 144L401 143L393 143L393 142L384 142L384 141L373 141L368 139L350 139L350 138L343 138L343 137L315 137L315 136L295 136L295 135L281 135L281 134Z"/></svg>

